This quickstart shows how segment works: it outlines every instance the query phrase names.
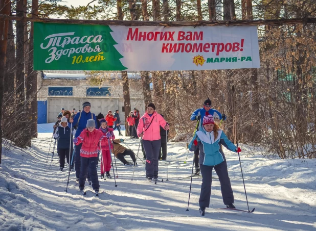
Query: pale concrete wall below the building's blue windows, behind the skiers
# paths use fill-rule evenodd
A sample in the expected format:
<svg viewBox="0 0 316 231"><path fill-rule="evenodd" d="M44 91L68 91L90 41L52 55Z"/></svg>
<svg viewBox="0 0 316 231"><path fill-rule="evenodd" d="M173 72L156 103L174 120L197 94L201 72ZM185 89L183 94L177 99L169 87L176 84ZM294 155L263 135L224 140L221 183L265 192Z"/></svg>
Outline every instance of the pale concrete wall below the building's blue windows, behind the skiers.
<svg viewBox="0 0 316 231"><path fill-rule="evenodd" d="M123 99L115 97L63 97L63 96L49 96L47 97L47 122L56 122L57 116L61 108L72 111L73 108L82 111L82 103L89 101L91 103L91 111L96 116L101 112L104 117L108 110L112 113L116 109L119 110L121 121L125 121L124 112L122 112ZM145 105L143 98L131 98L131 109L138 108L141 116L145 113Z"/></svg>

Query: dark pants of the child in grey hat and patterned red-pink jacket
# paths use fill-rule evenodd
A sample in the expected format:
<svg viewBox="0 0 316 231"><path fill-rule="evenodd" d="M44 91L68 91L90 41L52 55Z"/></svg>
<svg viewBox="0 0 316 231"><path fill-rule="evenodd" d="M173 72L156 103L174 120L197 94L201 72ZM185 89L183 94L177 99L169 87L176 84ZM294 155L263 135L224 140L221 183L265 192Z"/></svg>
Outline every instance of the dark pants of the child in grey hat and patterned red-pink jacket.
<svg viewBox="0 0 316 231"><path fill-rule="evenodd" d="M84 189L84 183L89 173L92 188L95 191L99 191L100 185L97 171L98 157L81 157L80 163L79 189Z"/></svg>

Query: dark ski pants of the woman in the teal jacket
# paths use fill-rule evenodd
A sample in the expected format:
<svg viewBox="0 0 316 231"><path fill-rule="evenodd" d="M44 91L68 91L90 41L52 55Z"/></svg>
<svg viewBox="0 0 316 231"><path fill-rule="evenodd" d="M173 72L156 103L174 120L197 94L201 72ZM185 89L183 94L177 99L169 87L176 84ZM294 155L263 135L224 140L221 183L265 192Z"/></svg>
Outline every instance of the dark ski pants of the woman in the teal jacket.
<svg viewBox="0 0 316 231"><path fill-rule="evenodd" d="M212 185L212 170L215 169L218 175L221 195L223 197L224 204L234 203L234 194L231 186L231 181L228 176L226 161L221 162L215 166L200 165L202 173L202 186L201 194L199 198L199 206L209 208L211 197L211 185Z"/></svg>

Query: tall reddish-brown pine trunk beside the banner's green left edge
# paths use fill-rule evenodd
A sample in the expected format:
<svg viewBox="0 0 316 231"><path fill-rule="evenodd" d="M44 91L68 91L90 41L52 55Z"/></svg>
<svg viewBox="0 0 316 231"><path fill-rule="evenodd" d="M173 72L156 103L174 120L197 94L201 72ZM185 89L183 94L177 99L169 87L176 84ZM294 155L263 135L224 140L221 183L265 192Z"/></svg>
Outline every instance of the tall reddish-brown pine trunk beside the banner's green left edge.
<svg viewBox="0 0 316 231"><path fill-rule="evenodd" d="M32 0L32 17L38 17L38 0ZM30 97L30 118L32 119L31 136L37 138L37 74L38 71L33 70L33 35L34 35L34 23L31 22L31 32L29 39L29 67L27 78L27 89L30 89L30 93L27 94Z"/></svg>

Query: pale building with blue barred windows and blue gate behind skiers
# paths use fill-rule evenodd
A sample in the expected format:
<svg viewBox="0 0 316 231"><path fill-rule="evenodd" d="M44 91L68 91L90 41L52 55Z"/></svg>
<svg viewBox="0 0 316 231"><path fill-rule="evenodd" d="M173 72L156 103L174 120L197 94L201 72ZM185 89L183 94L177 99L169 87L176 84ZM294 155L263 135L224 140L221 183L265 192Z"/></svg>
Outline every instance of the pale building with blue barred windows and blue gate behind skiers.
<svg viewBox="0 0 316 231"><path fill-rule="evenodd" d="M120 72L105 73L101 86L92 86L83 71L41 72L38 76L38 123L55 122L61 108L82 110L82 102L91 102L91 111L105 116L108 110L120 111L124 118L123 86ZM103 77L103 76L102 76ZM128 73L131 109L145 112L139 73Z"/></svg>

